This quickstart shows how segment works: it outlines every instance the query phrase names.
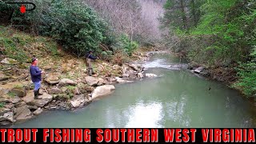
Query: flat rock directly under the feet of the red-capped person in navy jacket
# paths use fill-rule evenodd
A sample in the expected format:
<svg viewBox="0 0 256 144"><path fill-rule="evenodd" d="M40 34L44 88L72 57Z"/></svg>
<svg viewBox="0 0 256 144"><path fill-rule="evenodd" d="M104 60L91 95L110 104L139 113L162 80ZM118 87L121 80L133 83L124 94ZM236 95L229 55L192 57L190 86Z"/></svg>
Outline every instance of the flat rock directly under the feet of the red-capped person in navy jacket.
<svg viewBox="0 0 256 144"><path fill-rule="evenodd" d="M53 96L46 93L43 93L42 95L40 95L39 98L42 98L42 99L34 99L31 102L28 102L27 104L31 106L43 107L43 106L46 106L47 103L53 100Z"/></svg>

